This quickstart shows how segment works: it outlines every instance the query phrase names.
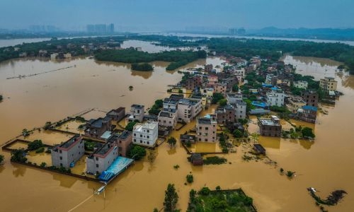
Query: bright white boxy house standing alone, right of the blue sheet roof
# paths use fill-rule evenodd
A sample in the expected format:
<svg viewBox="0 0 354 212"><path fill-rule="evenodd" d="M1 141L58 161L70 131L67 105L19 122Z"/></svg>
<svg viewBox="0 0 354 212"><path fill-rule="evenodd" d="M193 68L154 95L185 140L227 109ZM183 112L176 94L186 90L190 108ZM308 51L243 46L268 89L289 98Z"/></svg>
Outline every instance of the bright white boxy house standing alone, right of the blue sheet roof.
<svg viewBox="0 0 354 212"><path fill-rule="evenodd" d="M133 129L133 143L154 147L158 136L158 122L137 123Z"/></svg>

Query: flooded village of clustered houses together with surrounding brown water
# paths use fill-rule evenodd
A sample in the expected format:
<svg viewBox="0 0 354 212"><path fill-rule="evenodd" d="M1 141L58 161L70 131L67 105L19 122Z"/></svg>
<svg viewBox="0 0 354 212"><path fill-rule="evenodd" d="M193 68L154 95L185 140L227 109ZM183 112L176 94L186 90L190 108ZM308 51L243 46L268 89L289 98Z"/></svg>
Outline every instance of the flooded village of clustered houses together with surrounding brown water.
<svg viewBox="0 0 354 212"><path fill-rule="evenodd" d="M122 47L171 50L135 40ZM353 208L354 77L340 62L209 52L175 71L149 64L154 71L90 57L1 62L2 209L160 210L169 183L182 211L202 187L241 188L257 211L319 211L307 188L321 199L341 189L343 200L324 208ZM11 163L10 151L39 140L43 151Z"/></svg>

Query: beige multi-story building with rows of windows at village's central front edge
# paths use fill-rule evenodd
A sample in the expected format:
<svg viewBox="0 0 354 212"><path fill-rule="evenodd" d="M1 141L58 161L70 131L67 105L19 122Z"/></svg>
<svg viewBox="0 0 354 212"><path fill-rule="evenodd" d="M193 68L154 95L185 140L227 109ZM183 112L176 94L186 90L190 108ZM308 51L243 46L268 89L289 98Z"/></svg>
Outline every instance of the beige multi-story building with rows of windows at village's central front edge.
<svg viewBox="0 0 354 212"><path fill-rule="evenodd" d="M217 141L217 120L213 117L197 119L197 141Z"/></svg>

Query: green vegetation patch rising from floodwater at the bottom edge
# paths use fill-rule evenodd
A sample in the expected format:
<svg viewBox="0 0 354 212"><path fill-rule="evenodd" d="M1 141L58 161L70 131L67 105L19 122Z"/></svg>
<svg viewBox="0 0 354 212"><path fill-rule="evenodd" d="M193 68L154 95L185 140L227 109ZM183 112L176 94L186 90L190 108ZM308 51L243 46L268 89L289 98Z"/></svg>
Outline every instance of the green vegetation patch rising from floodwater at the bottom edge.
<svg viewBox="0 0 354 212"><path fill-rule="evenodd" d="M188 212L206 211L256 211L253 199L241 189L210 191L203 187L200 191L190 190Z"/></svg>

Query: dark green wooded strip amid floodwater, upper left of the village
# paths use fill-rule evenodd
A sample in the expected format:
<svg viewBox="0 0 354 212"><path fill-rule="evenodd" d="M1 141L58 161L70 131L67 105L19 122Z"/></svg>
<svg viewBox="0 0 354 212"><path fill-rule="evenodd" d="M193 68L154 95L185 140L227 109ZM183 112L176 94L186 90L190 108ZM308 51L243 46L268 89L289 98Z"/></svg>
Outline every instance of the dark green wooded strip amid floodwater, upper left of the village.
<svg viewBox="0 0 354 212"><path fill-rule="evenodd" d="M185 64L188 64L197 59L207 57L207 52L200 51L165 51L158 53L138 52L135 49L120 49L120 50L101 50L95 52L95 57L101 61L116 61L124 63L141 63L151 61L170 61L171 64L166 67L166 70L171 71Z"/></svg>

